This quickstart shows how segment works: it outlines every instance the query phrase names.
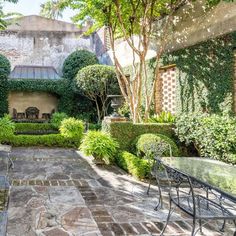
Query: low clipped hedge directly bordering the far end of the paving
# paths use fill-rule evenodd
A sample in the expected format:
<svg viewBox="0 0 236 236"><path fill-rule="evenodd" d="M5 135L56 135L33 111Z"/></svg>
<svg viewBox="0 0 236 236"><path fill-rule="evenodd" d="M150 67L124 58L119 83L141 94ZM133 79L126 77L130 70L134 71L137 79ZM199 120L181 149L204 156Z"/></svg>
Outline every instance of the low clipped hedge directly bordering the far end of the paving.
<svg viewBox="0 0 236 236"><path fill-rule="evenodd" d="M61 134L14 135L11 138L4 138L2 142L14 147L40 146L64 148L78 148L80 143L77 137L65 138Z"/></svg>

